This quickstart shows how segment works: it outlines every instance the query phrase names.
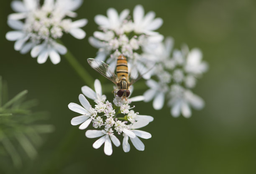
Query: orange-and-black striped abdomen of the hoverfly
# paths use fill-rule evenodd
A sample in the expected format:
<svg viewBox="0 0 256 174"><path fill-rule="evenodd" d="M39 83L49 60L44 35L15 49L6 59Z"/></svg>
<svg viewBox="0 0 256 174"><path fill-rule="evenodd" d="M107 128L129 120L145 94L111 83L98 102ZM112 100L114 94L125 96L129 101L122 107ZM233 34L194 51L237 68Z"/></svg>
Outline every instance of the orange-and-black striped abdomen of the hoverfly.
<svg viewBox="0 0 256 174"><path fill-rule="evenodd" d="M127 60L124 56L119 56L116 64L116 73L118 76L118 79L121 79L122 77L125 77L128 79L128 66L127 66Z"/></svg>

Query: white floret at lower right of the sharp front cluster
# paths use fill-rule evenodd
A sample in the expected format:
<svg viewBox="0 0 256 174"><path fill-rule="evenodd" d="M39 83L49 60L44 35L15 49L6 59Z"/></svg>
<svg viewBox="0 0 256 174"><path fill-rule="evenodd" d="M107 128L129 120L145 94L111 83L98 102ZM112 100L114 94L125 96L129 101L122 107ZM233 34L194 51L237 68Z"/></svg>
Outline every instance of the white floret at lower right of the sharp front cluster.
<svg viewBox="0 0 256 174"><path fill-rule="evenodd" d="M139 151L144 151L145 146L142 143L142 141L138 138L144 138L144 139L148 139L151 138L151 134L142 130L135 130L138 128L142 128L146 125L148 125L149 121L148 120L139 120L136 123L134 123L133 125L131 125L131 131L133 133L135 133L136 137L135 138L131 138L131 142L133 143L133 146L139 150ZM124 135L123 138L123 151L125 152L129 152L130 151L130 144L128 143L129 140L129 136Z"/></svg>

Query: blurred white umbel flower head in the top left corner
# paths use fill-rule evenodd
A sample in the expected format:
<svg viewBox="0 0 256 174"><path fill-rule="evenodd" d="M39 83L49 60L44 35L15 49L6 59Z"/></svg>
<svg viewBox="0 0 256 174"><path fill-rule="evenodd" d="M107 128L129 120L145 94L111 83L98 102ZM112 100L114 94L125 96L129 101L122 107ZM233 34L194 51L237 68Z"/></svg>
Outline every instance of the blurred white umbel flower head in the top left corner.
<svg viewBox="0 0 256 174"><path fill-rule="evenodd" d="M60 62L60 54L66 54L65 46L58 44L64 33L70 33L77 39L85 37L81 29L86 19L72 21L73 11L79 8L82 0L15 0L11 7L17 13L8 16L8 25L14 29L6 33L6 39L15 41L14 49L26 54L31 51L33 58L43 64L49 57L53 64Z"/></svg>

